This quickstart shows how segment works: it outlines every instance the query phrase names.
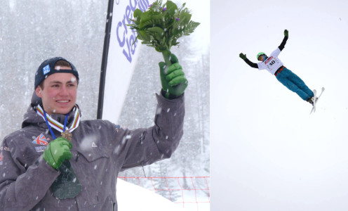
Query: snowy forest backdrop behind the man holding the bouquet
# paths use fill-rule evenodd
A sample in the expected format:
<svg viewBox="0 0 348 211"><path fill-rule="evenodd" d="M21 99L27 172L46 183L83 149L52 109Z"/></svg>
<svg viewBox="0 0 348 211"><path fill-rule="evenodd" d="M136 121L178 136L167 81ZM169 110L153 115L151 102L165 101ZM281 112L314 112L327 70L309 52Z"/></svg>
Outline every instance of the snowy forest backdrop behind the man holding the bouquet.
<svg viewBox="0 0 348 211"><path fill-rule="evenodd" d="M192 20L201 23L194 34L179 40L180 48L172 48L189 81L185 91L184 136L171 159L144 167L144 170L127 170L119 176L210 176L209 1L174 2L187 2L186 6L193 14ZM77 103L82 120L96 118L106 17L107 1L1 2L0 142L6 135L20 129L22 115L34 91L34 72L46 58L62 56L76 66L80 75ZM161 89L158 66L161 60L161 53L147 46L141 48L119 120L122 127L135 129L153 125L155 93ZM189 180L182 183L184 188L185 183L189 187ZM166 194L163 196L167 197ZM179 198L175 194L172 198ZM208 200L208 191L201 194L204 200Z"/></svg>

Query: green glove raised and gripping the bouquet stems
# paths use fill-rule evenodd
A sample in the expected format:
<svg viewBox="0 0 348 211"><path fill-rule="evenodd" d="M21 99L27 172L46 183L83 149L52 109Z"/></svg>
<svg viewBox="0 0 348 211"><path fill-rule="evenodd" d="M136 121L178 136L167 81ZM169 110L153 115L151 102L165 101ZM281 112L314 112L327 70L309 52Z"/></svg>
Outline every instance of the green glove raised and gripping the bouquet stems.
<svg viewBox="0 0 348 211"><path fill-rule="evenodd" d="M169 94L175 96L182 95L187 87L187 79L178 62L178 58L171 53L171 65L168 68L166 67L166 63L159 63L161 84L163 91L166 91L166 98L169 98Z"/></svg>

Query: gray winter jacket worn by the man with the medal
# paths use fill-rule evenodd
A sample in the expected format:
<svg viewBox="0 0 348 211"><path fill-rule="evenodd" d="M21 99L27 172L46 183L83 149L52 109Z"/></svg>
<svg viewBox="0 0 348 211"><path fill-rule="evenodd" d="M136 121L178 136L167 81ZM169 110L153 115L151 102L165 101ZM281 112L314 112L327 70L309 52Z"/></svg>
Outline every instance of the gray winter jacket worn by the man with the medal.
<svg viewBox="0 0 348 211"><path fill-rule="evenodd" d="M184 96L156 98L154 126L147 129L123 129L107 120L80 122L72 132L70 162L82 191L64 200L55 198L50 188L60 172L42 158L46 146L32 143L41 135L47 142L53 138L44 119L29 107L22 129L1 143L0 210L117 210L119 172L170 158L182 137ZM51 117L62 123L65 119L65 115ZM68 122L73 118L69 115Z"/></svg>

